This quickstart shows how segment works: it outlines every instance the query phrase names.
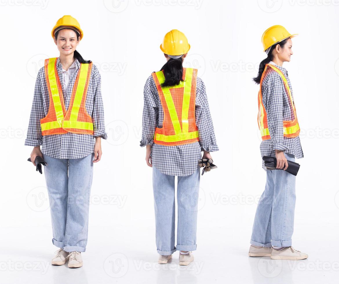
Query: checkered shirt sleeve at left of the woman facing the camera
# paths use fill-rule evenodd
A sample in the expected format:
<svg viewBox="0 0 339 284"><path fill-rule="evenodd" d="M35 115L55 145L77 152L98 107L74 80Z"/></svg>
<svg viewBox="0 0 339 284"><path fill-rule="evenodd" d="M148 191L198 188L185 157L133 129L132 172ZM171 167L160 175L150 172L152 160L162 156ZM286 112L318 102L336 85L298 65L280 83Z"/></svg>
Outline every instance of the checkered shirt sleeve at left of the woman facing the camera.
<svg viewBox="0 0 339 284"><path fill-rule="evenodd" d="M41 133L41 125L40 119L45 117L42 103L42 86L41 86L41 69L38 73L33 103L31 108L31 116L29 117L28 129L27 129L27 137L25 139L26 146L39 146L42 145L42 133Z"/></svg>

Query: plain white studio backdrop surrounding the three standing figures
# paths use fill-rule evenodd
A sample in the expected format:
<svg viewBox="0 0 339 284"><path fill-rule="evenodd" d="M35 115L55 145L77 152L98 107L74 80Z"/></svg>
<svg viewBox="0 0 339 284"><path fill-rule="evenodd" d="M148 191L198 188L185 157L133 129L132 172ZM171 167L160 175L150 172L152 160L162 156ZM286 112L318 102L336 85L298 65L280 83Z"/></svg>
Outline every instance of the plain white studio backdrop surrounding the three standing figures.
<svg viewBox="0 0 339 284"><path fill-rule="evenodd" d="M337 283L339 1L0 0L1 283ZM35 79L59 52L51 29L63 15L84 31L77 50L102 77L108 140L94 169L84 265L51 265L57 249L44 175L24 146ZM305 158L297 160L293 246L307 260L247 256L265 185L252 82L261 35L281 24L293 39L291 78ZM185 67L205 82L219 152L201 177L195 262L158 265L152 169L140 148L143 86L165 63L159 45L179 29L191 44ZM99 200L99 201L98 201ZM112 203L112 204L110 204Z"/></svg>

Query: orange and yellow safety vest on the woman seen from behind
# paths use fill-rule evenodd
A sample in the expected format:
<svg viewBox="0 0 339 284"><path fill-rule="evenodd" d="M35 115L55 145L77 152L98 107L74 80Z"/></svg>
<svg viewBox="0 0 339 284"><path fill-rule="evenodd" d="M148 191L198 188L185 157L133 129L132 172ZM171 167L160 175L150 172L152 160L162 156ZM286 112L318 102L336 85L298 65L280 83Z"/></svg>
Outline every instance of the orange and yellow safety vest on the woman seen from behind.
<svg viewBox="0 0 339 284"><path fill-rule="evenodd" d="M162 128L155 128L154 143L175 146L199 141L195 123L197 72L197 69L183 68L183 81L171 87L161 87L165 82L163 71L152 73L164 110Z"/></svg>

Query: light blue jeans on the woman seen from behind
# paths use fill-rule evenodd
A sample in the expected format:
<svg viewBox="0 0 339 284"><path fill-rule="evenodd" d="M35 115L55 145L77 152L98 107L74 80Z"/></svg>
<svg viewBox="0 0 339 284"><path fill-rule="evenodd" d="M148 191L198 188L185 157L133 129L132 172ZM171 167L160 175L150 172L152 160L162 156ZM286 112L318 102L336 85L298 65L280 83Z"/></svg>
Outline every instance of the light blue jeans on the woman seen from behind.
<svg viewBox="0 0 339 284"><path fill-rule="evenodd" d="M178 228L175 246L175 176L165 175L153 166L153 194L157 252L171 255L176 250L197 249L197 213L200 168L189 176L178 176Z"/></svg>

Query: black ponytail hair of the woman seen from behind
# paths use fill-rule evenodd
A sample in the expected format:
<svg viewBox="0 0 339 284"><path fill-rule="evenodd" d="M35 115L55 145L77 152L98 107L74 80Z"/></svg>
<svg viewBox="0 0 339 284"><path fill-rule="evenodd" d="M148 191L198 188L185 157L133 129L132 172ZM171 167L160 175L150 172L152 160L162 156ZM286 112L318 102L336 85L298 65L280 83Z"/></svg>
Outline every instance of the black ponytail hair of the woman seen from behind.
<svg viewBox="0 0 339 284"><path fill-rule="evenodd" d="M161 70L164 71L165 82L161 84L162 87L175 86L182 80L182 61L183 58L177 59L169 58Z"/></svg>

